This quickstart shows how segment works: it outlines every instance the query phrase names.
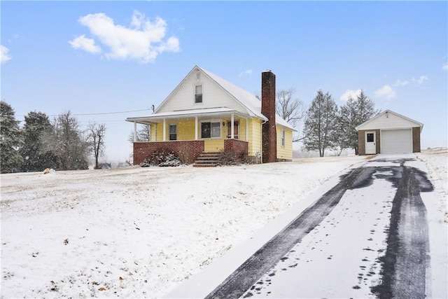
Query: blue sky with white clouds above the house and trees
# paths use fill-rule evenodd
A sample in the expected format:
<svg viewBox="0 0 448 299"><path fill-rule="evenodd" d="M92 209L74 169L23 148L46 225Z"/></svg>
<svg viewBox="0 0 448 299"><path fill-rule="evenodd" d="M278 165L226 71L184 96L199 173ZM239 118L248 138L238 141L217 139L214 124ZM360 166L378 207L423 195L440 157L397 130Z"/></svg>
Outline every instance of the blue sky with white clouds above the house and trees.
<svg viewBox="0 0 448 299"><path fill-rule="evenodd" d="M447 1L1 1L1 99L18 120L70 110L105 123L125 160L125 118L151 113L199 65L260 95L261 72L309 106L363 89L377 109L447 146ZM129 113L111 113L136 111ZM99 114L111 113L111 114ZM93 114L93 115L82 115Z"/></svg>

